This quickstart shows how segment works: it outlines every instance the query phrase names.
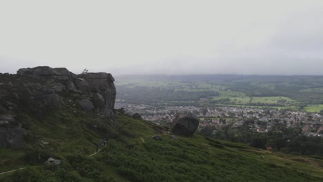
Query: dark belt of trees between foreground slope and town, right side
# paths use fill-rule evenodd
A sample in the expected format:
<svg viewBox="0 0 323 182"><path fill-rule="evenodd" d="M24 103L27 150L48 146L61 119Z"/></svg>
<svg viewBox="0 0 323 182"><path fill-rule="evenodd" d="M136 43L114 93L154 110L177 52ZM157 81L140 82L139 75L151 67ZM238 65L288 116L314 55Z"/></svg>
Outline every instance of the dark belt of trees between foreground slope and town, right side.
<svg viewBox="0 0 323 182"><path fill-rule="evenodd" d="M222 128L207 126L200 130L200 134L215 139L246 143L255 148L273 148L280 152L301 155L323 156L323 139L320 136L305 136L300 127L286 128L277 123L269 132L256 132L249 129L249 124L255 124L252 119L244 121L239 127L226 125ZM258 122L258 125L264 123ZM322 132L323 134L323 132Z"/></svg>

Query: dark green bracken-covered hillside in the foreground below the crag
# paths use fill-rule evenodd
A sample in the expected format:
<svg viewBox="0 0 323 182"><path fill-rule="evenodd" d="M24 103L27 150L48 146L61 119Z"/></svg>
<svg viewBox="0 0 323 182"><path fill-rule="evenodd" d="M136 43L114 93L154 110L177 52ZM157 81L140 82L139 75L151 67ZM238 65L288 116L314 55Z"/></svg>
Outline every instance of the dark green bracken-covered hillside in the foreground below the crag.
<svg viewBox="0 0 323 182"><path fill-rule="evenodd" d="M75 109L46 117L19 114L23 150L0 150L0 181L322 181L323 159L256 150L239 143L160 133L118 114L113 121ZM161 141L152 139L159 134ZM108 138L95 152L93 143ZM48 142L40 145L41 141ZM43 164L49 156L59 166Z"/></svg>

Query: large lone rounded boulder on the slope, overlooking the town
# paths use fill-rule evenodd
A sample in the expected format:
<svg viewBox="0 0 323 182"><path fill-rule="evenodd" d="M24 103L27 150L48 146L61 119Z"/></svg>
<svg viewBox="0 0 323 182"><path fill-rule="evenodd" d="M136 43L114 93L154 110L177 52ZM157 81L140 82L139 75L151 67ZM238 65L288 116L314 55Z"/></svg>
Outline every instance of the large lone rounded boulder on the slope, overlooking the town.
<svg viewBox="0 0 323 182"><path fill-rule="evenodd" d="M199 126L199 119L190 114L177 114L170 127L173 134L191 136Z"/></svg>

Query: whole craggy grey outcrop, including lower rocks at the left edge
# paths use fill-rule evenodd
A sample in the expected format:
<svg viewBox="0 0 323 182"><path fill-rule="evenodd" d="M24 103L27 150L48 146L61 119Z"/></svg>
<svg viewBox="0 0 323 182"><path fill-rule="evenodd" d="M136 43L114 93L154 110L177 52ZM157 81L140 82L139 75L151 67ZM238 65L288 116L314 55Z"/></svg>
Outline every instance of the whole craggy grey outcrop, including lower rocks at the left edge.
<svg viewBox="0 0 323 182"><path fill-rule="evenodd" d="M17 74L0 73L0 148L23 147L26 128L14 121L14 115L21 111L41 116L69 107L112 117L114 81L105 72L77 75L66 68L48 66L21 68Z"/></svg>

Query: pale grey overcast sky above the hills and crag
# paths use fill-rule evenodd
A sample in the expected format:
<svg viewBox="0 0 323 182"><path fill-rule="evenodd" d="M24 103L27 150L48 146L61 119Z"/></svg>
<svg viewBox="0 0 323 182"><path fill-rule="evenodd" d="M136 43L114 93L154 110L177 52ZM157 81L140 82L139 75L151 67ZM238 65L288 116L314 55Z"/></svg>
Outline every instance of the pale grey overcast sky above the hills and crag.
<svg viewBox="0 0 323 182"><path fill-rule="evenodd" d="M0 63L0 72L323 74L323 1L3 0Z"/></svg>

